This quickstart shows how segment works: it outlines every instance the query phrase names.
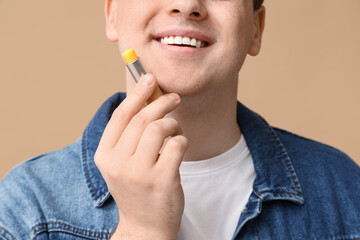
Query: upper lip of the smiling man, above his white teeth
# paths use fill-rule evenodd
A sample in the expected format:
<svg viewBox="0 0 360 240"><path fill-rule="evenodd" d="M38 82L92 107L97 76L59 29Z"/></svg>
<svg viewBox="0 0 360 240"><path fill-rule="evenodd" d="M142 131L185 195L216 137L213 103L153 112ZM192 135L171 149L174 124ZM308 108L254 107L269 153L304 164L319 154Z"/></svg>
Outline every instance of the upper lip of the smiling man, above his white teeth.
<svg viewBox="0 0 360 240"><path fill-rule="evenodd" d="M152 35L153 39L159 40L164 37L169 36L182 36L182 37L189 37L189 38L196 38L197 40L201 40L203 42L208 43L209 45L214 43L214 38L210 35L203 33L197 30L190 30L190 29L169 29L160 31Z"/></svg>

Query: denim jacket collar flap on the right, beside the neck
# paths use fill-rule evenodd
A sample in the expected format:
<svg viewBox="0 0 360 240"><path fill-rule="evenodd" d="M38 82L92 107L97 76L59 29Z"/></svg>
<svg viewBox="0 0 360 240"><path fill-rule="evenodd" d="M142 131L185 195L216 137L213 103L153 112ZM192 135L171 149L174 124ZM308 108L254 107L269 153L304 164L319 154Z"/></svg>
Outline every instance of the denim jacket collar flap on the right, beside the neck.
<svg viewBox="0 0 360 240"><path fill-rule="evenodd" d="M275 130L265 119L239 102L237 123L254 161L255 194L262 201L288 200L304 204L294 165Z"/></svg>

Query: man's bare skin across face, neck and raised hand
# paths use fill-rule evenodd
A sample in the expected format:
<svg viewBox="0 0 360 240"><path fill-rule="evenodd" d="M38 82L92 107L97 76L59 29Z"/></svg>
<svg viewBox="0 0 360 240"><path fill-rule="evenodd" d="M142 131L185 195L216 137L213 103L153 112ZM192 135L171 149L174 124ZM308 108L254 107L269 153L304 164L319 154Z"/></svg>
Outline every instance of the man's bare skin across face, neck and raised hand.
<svg viewBox="0 0 360 240"><path fill-rule="evenodd" d="M106 0L108 39L120 52L134 48L151 73L137 85L127 73L128 96L95 154L119 208L112 239L175 239L184 210L179 166L240 139L238 72L260 51L264 16L252 0ZM160 44L167 34L195 34L209 46ZM156 83L169 94L146 105Z"/></svg>

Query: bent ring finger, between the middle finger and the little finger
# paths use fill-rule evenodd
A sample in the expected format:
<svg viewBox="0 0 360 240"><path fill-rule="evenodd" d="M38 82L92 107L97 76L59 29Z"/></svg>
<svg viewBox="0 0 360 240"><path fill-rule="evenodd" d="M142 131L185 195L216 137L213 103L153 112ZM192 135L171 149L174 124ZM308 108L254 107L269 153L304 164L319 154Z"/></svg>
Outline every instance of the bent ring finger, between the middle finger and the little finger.
<svg viewBox="0 0 360 240"><path fill-rule="evenodd" d="M181 133L179 123L173 118L163 118L150 123L141 136L133 159L141 166L152 166L159 157L165 139Z"/></svg>

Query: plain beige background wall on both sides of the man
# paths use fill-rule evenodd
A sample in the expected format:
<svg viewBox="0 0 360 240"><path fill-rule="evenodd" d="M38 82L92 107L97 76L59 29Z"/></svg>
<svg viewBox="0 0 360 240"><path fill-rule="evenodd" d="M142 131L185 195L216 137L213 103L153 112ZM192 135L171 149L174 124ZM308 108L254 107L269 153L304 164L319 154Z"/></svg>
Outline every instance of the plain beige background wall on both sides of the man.
<svg viewBox="0 0 360 240"><path fill-rule="evenodd" d="M272 125L360 163L360 1L267 0L260 56L239 99ZM0 178L76 140L99 105L124 91L104 34L103 1L0 0Z"/></svg>

